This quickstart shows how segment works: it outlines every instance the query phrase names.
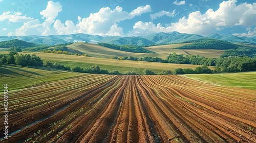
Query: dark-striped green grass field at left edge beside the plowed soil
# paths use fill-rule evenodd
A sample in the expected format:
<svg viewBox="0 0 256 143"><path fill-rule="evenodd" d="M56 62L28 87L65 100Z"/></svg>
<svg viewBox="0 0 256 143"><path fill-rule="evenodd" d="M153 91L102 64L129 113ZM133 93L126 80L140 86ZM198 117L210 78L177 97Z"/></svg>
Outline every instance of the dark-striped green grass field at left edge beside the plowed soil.
<svg viewBox="0 0 256 143"><path fill-rule="evenodd" d="M10 90L23 89L37 84L67 79L78 75L81 75L81 73L48 67L25 67L0 64L0 85L8 84L8 89Z"/></svg>

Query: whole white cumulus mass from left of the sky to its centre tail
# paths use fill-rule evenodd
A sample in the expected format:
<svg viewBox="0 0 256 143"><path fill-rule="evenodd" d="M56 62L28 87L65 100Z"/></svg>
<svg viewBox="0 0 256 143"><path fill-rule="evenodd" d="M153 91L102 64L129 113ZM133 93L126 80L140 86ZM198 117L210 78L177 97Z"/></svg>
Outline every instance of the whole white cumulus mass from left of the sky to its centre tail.
<svg viewBox="0 0 256 143"><path fill-rule="evenodd" d="M108 36L123 36L123 29L118 27L120 21L132 19L135 16L140 16L143 13L151 12L151 6L141 6L133 11L126 12L121 7L117 6L114 10L109 7L101 8L96 13L91 13L89 17L78 16L77 23L67 20L61 22L55 18L58 13L62 11L62 6L59 2L54 3L49 1L47 8L40 12L45 21L40 23L38 19L25 22L22 27L16 30L16 35L31 34L30 28L38 35L50 34L73 34L73 33L87 33ZM34 24L34 25L33 25Z"/></svg>

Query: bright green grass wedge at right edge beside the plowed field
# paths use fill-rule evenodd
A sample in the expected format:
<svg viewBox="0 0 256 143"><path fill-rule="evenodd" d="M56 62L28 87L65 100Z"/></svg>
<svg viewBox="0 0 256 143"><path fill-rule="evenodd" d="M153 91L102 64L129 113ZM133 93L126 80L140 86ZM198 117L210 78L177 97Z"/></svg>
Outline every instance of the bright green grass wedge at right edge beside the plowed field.
<svg viewBox="0 0 256 143"><path fill-rule="evenodd" d="M183 75L185 77L218 84L229 87L239 87L256 90L256 72L234 73L234 74L200 74L200 75Z"/></svg>

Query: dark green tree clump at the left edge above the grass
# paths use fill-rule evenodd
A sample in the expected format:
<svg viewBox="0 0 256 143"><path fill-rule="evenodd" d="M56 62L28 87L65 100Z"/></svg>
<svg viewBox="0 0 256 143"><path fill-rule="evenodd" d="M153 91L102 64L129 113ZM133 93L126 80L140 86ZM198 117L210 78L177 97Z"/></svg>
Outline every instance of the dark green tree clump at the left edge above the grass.
<svg viewBox="0 0 256 143"><path fill-rule="evenodd" d="M0 63L17 64L23 66L42 66L44 63L41 58L33 54L18 54L10 52L9 54L0 54Z"/></svg>

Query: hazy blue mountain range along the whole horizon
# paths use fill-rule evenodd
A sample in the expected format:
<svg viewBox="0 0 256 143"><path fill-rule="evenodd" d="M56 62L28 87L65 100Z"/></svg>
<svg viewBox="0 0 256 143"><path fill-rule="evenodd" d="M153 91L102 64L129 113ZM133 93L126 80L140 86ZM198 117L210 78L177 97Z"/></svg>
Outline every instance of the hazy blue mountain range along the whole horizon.
<svg viewBox="0 0 256 143"><path fill-rule="evenodd" d="M189 40L196 39L218 39L229 41L232 43L250 43L256 44L256 36L254 37L237 37L234 35L212 34L209 36L201 36L197 34L185 34L179 32L171 33L154 33L146 36L138 37L120 37L120 36L99 36L89 34L70 34L70 35L49 35L49 36L0 36L0 41L8 41L11 39L23 40L31 43L55 45L76 41L87 41L89 43L110 43L110 44L136 44L136 45L150 45L150 44L168 44L168 43L180 43Z"/></svg>

